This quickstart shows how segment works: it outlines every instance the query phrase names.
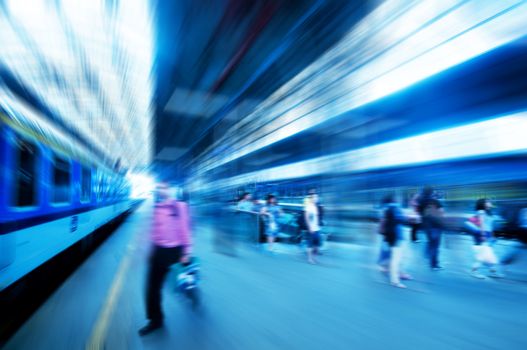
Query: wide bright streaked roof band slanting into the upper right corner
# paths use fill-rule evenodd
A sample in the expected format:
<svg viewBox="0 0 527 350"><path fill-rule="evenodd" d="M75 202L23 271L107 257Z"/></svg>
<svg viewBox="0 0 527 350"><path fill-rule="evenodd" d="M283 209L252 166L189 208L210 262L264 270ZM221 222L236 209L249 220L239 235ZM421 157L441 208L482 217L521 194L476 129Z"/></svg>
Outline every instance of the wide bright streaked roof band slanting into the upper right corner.
<svg viewBox="0 0 527 350"><path fill-rule="evenodd" d="M232 151L210 152L198 172L521 38L526 21L525 1L387 1L219 138Z"/></svg>

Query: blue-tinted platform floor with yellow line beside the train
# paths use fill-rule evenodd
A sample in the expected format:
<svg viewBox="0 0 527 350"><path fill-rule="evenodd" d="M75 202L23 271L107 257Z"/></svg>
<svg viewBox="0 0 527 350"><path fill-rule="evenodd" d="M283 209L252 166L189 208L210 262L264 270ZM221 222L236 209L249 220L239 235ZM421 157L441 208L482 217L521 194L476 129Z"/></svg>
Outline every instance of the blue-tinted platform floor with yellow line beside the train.
<svg viewBox="0 0 527 350"><path fill-rule="evenodd" d="M375 246L329 244L320 264L296 246L274 254L213 246L197 220L203 307L165 288L164 329L146 337L149 203L143 204L8 341L6 349L527 349L527 257L505 279L467 274L470 244L447 237L444 271L409 244L415 280L400 290L373 264ZM500 246L499 249L509 249Z"/></svg>

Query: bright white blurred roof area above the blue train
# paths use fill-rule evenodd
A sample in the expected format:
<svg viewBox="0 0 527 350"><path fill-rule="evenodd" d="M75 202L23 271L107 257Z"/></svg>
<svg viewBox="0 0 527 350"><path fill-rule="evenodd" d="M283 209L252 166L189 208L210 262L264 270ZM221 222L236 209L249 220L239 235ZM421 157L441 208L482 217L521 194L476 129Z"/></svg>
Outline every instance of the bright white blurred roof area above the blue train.
<svg viewBox="0 0 527 350"><path fill-rule="evenodd" d="M153 32L148 2L10 0L0 8L0 104L30 94L110 163L151 160ZM16 86L15 86L16 85ZM6 97L7 96L7 97ZM10 101L6 101L9 98Z"/></svg>

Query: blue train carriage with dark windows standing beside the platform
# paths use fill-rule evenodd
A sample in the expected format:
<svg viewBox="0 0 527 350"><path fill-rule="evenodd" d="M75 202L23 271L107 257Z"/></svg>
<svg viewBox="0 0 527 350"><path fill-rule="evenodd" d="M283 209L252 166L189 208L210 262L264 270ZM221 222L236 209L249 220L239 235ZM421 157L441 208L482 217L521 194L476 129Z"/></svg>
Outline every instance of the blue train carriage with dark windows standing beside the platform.
<svg viewBox="0 0 527 350"><path fill-rule="evenodd" d="M0 109L0 291L128 211L125 174Z"/></svg>

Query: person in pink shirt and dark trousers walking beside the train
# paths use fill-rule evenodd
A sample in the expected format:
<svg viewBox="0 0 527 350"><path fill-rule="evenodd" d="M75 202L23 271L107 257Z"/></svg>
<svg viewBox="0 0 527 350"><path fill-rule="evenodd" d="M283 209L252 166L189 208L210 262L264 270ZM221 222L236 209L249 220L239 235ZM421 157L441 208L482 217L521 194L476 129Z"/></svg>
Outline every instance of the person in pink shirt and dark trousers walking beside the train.
<svg viewBox="0 0 527 350"><path fill-rule="evenodd" d="M161 289L172 264L189 261L191 238L187 203L170 198L169 187L161 183L156 189L154 215L150 228L152 253L146 286L148 323L139 330L146 335L163 326Z"/></svg>

